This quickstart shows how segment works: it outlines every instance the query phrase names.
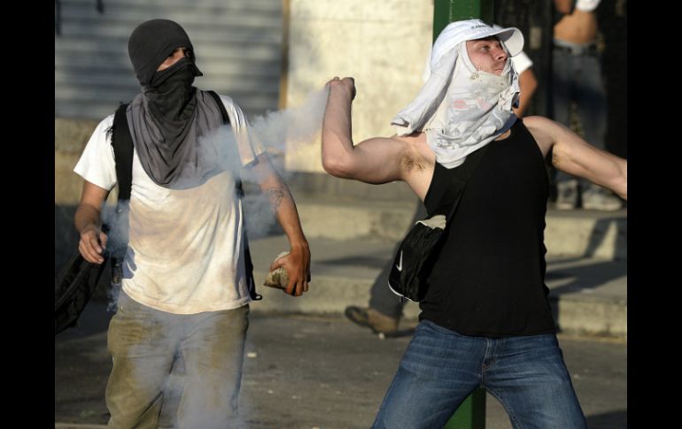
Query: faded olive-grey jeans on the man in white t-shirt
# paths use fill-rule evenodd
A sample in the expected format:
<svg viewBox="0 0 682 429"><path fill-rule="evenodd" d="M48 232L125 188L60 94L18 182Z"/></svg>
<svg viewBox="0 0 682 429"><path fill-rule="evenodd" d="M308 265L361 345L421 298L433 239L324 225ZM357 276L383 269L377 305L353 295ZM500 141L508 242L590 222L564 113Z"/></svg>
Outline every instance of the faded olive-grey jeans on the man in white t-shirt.
<svg viewBox="0 0 682 429"><path fill-rule="evenodd" d="M171 314L120 293L107 345L113 367L106 386L109 427L155 428L176 356L185 374L176 404L183 429L236 426L249 306Z"/></svg>

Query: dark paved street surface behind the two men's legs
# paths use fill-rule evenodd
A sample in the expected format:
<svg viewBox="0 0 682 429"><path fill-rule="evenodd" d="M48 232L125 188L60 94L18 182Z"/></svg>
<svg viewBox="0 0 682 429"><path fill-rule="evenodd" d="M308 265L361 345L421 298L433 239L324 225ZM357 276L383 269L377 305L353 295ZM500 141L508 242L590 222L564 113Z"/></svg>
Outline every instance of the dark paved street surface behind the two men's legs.
<svg viewBox="0 0 682 429"><path fill-rule="evenodd" d="M107 314L105 304L90 303L81 321L84 327L55 338L56 424L98 427L108 418L104 402L111 367ZM369 427L407 347L408 332L401 338L380 340L338 316L252 313L240 400L245 426ZM559 341L589 427L625 428L625 341L565 335ZM511 428L491 396L486 428Z"/></svg>

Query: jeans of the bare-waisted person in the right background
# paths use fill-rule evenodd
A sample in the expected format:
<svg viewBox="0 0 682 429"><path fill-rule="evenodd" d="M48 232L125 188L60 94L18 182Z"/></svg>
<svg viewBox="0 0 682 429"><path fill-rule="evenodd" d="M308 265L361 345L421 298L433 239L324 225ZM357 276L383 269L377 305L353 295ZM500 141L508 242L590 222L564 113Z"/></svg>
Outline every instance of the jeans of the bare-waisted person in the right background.
<svg viewBox="0 0 682 429"><path fill-rule="evenodd" d="M576 103L577 117L585 140L604 149L608 104L601 77L601 57L593 51L574 54L561 49L552 52L552 118L570 127L571 102ZM570 179L570 174L556 172L556 182ZM585 180L581 180L585 185Z"/></svg>

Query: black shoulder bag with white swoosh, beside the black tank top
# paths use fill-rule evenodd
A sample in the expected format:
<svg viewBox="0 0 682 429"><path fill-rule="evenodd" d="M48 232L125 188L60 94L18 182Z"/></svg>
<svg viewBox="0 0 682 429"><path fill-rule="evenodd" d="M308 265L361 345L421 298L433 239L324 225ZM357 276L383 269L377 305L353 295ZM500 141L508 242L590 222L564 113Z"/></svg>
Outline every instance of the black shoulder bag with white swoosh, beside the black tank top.
<svg viewBox="0 0 682 429"><path fill-rule="evenodd" d="M487 147L486 144L470 153L464 164L454 168L453 182L438 203L438 208L430 213L430 218L418 220L400 243L393 259L388 287L400 296L401 302L408 299L418 303L426 296L431 269L445 241L447 223L452 221L467 181Z"/></svg>

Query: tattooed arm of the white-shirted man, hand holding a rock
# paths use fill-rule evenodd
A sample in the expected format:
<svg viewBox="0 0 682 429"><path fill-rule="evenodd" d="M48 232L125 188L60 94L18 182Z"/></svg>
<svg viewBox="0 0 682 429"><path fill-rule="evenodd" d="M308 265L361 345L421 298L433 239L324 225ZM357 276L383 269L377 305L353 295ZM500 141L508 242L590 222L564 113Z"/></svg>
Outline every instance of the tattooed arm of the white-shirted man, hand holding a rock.
<svg viewBox="0 0 682 429"><path fill-rule="evenodd" d="M296 203L294 203L289 187L270 164L266 153L258 157L258 163L252 167L250 176L259 184L260 190L267 195L275 217L289 239L291 248L289 255L277 259L275 264L270 266L270 270L283 266L289 274L289 285L285 292L289 295L300 296L307 292L308 281L310 281L310 249L301 228Z"/></svg>

